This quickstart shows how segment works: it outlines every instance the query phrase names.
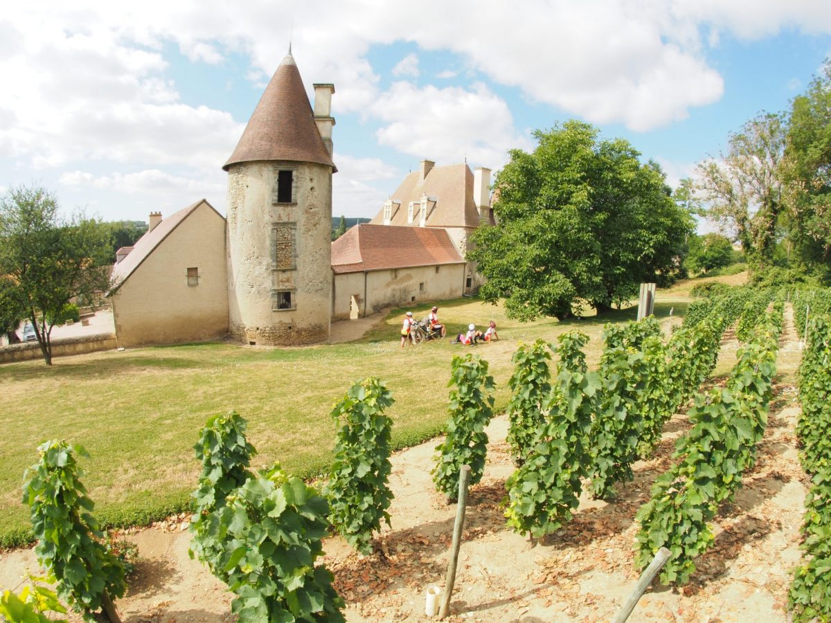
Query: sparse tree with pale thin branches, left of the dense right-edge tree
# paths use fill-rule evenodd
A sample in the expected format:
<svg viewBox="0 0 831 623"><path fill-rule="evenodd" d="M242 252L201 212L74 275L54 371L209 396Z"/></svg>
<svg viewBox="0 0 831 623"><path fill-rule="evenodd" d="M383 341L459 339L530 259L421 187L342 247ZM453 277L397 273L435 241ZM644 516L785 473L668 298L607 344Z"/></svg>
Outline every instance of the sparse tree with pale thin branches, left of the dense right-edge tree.
<svg viewBox="0 0 831 623"><path fill-rule="evenodd" d="M739 238L755 275L773 264L782 213L785 131L783 115L759 115L730 135L727 153L696 168L707 216Z"/></svg>

